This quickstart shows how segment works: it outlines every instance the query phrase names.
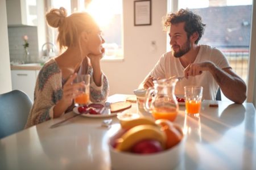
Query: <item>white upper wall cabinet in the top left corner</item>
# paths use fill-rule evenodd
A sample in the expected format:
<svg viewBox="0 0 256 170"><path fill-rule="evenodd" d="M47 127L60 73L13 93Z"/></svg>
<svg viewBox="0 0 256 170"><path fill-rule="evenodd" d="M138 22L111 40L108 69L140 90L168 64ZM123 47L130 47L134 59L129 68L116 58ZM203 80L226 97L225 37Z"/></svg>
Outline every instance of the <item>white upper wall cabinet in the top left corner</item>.
<svg viewBox="0 0 256 170"><path fill-rule="evenodd" d="M6 11L9 26L38 24L36 0L6 0Z"/></svg>

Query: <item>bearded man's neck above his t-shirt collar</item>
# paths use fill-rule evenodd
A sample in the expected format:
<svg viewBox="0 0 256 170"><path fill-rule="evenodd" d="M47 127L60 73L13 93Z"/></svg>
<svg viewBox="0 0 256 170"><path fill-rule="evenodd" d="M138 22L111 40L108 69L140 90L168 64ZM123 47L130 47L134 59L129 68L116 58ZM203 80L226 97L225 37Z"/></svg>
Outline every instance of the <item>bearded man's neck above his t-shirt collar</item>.
<svg viewBox="0 0 256 170"><path fill-rule="evenodd" d="M187 67L190 63L193 63L196 59L197 54L199 53L200 46L194 44L189 52L180 57L180 63L183 67Z"/></svg>

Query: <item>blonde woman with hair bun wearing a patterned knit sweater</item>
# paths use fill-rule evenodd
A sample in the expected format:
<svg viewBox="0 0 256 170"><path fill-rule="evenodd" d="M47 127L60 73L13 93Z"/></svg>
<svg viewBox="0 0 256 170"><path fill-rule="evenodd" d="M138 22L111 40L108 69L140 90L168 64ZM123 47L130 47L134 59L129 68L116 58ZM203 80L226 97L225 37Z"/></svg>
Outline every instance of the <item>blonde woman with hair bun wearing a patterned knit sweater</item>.
<svg viewBox="0 0 256 170"><path fill-rule="evenodd" d="M105 40L93 18L86 12L67 16L65 8L60 7L49 11L46 19L51 27L58 28L60 49L67 49L40 70L26 128L72 111L73 99L84 86L84 82L73 83L78 74L91 75L91 101L105 101L109 94L108 79L100 66Z"/></svg>

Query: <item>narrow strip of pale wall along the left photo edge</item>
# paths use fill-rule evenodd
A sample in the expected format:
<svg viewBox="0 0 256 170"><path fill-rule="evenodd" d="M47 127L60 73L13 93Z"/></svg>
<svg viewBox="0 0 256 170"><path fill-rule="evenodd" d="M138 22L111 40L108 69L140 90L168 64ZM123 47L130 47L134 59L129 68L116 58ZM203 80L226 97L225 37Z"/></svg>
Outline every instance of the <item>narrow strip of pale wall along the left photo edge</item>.
<svg viewBox="0 0 256 170"><path fill-rule="evenodd" d="M0 1L0 16L0 94L2 94L11 91L11 69L5 1Z"/></svg>

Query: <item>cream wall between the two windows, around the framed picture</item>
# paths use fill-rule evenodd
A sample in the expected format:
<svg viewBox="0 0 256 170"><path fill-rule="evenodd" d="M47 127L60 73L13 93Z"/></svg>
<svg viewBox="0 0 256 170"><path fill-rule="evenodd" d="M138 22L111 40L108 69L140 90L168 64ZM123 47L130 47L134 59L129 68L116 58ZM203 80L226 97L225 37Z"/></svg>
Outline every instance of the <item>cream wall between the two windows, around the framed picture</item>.
<svg viewBox="0 0 256 170"><path fill-rule="evenodd" d="M123 0L125 59L102 61L102 70L109 79L110 95L133 94L160 55L166 52L162 17L167 13L167 1L152 0L151 7L151 25L134 26L134 1ZM151 50L151 41L156 42L156 52Z"/></svg>

